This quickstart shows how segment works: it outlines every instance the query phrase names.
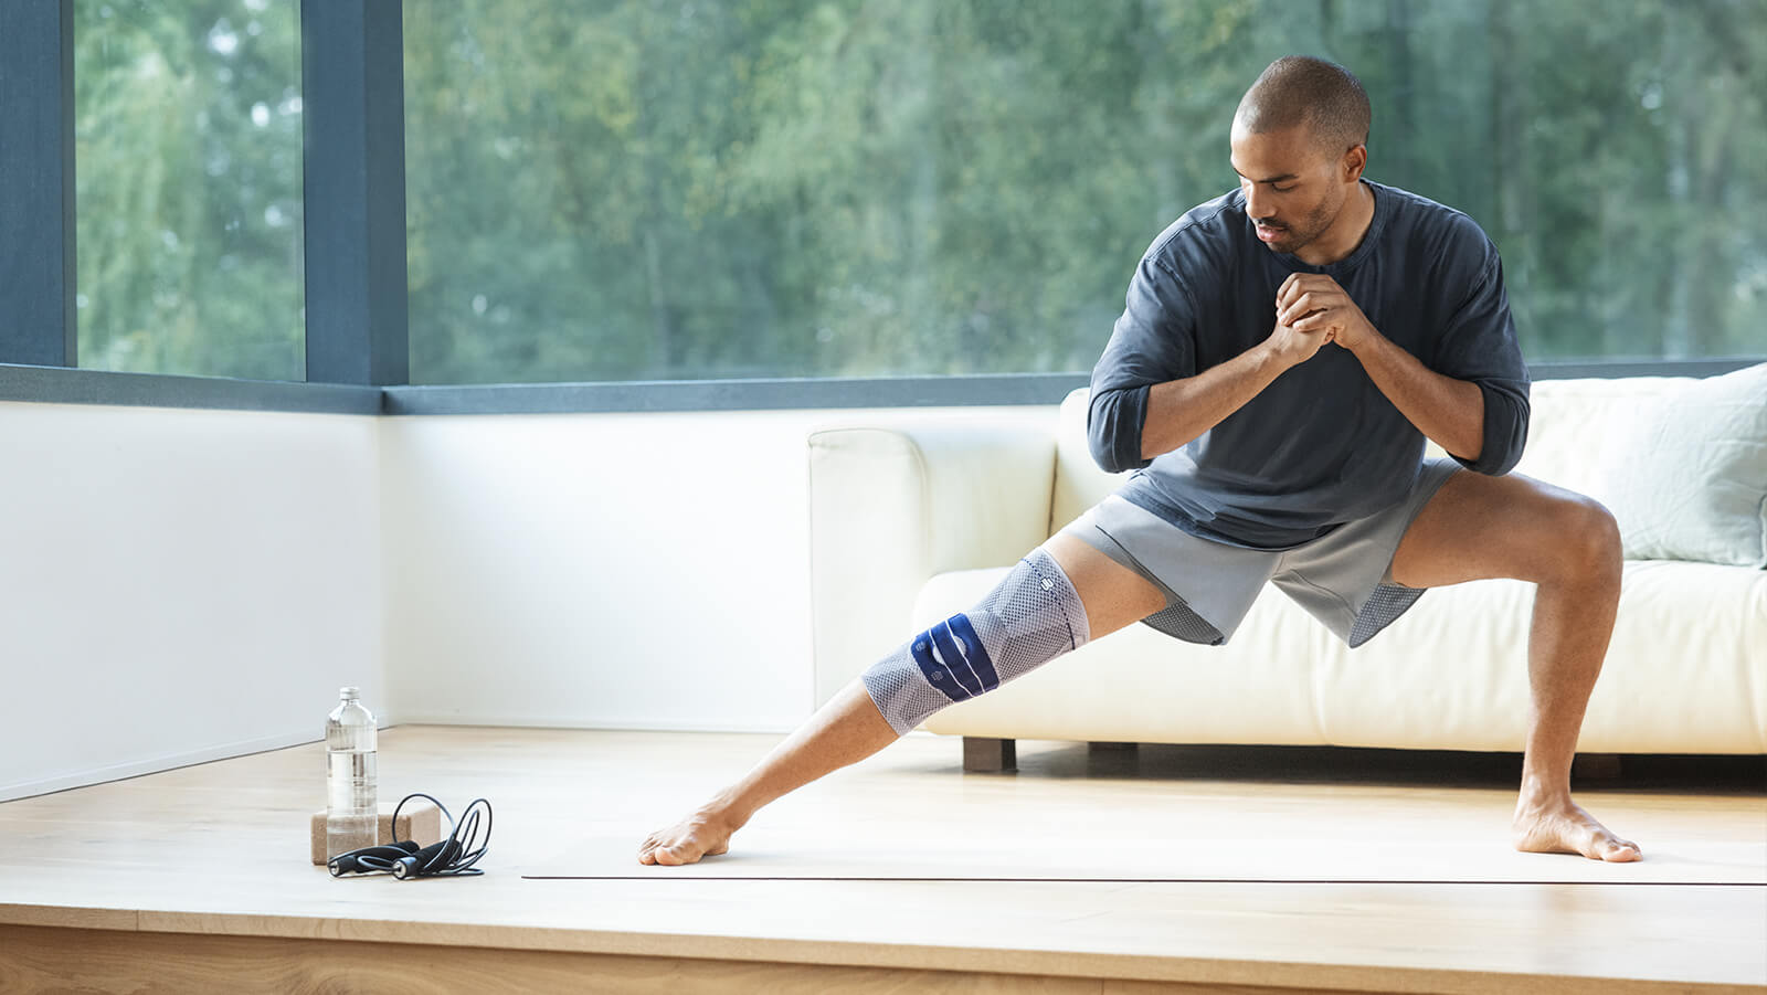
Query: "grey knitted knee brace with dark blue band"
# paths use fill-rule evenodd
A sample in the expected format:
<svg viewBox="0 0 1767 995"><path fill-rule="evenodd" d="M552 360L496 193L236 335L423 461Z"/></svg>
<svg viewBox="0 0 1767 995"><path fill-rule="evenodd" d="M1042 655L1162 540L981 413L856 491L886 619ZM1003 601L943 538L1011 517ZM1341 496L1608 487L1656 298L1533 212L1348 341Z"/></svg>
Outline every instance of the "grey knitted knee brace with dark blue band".
<svg viewBox="0 0 1767 995"><path fill-rule="evenodd" d="M945 705L993 691L1088 638L1080 594L1039 546L975 608L914 636L861 680L884 719L903 735Z"/></svg>

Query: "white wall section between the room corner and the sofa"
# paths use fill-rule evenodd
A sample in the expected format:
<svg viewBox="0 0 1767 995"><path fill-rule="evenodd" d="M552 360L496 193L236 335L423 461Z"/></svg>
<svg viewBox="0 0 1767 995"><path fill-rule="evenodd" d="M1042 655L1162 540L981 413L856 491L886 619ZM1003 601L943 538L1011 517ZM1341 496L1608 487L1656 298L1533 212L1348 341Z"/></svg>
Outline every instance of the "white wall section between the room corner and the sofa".
<svg viewBox="0 0 1767 995"><path fill-rule="evenodd" d="M790 730L815 702L809 431L1048 412L383 419L398 716Z"/></svg>

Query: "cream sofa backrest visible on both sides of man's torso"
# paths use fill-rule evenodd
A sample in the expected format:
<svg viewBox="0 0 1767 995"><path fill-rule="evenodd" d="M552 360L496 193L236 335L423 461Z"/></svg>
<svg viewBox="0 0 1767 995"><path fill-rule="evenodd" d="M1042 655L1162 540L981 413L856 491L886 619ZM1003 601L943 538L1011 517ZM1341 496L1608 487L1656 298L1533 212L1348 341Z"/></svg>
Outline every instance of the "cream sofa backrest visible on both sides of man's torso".
<svg viewBox="0 0 1767 995"><path fill-rule="evenodd" d="M1589 380L1537 380L1528 396L1528 444L1518 474L1603 500L1601 456L1613 426L1624 426L1649 398L1661 396L1686 376L1622 376ZM1129 474L1106 474L1087 447L1087 396L1080 387L1062 401L1055 440L1055 500L1050 534L1080 518L1127 481ZM1433 442L1430 454L1442 454Z"/></svg>

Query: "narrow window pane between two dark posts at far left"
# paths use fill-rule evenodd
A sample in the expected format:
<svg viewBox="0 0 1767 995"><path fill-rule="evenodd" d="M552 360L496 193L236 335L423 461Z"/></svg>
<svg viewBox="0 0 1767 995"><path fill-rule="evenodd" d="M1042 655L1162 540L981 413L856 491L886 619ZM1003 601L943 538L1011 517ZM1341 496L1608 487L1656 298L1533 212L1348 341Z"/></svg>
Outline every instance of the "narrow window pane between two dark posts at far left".
<svg viewBox="0 0 1767 995"><path fill-rule="evenodd" d="M76 0L80 366L302 380L292 0Z"/></svg>

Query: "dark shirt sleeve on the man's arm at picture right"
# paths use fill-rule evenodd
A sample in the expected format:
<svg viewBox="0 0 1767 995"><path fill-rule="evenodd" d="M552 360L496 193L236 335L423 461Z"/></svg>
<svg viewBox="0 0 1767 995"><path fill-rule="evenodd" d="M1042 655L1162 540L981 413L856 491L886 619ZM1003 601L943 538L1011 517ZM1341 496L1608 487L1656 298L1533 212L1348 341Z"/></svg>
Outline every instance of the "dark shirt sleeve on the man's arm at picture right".
<svg viewBox="0 0 1767 995"><path fill-rule="evenodd" d="M1479 240L1484 246L1483 265L1438 339L1435 371L1477 384L1484 394L1484 447L1477 460L1454 456L1454 461L1500 477L1521 461L1528 438L1530 380L1504 292L1504 262L1483 232Z"/></svg>

